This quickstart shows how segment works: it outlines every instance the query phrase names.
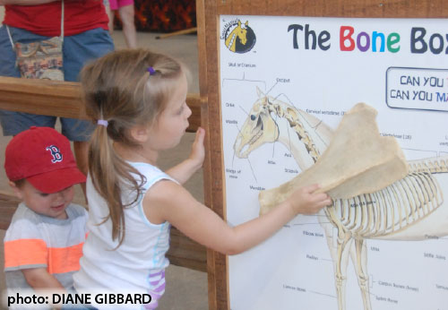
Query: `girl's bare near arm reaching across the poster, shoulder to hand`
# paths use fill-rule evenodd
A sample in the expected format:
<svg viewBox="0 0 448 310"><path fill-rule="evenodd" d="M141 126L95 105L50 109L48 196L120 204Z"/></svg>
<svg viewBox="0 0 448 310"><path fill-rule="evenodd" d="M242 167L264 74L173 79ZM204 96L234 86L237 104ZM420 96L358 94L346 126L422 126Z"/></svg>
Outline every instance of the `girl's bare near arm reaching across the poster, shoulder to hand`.
<svg viewBox="0 0 448 310"><path fill-rule="evenodd" d="M202 245L223 254L239 254L271 237L298 213L314 214L331 204L327 194L314 194L317 188L317 185L303 187L277 208L234 228L197 202L184 187L171 181L153 185L143 198L143 209L154 224L168 220Z"/></svg>

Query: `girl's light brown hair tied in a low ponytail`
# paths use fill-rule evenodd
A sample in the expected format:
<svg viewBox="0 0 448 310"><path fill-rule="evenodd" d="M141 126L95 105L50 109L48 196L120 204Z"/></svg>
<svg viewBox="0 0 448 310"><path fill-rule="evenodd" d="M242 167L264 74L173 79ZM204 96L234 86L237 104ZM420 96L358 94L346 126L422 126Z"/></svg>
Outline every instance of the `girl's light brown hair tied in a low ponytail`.
<svg viewBox="0 0 448 310"><path fill-rule="evenodd" d="M145 179L116 154L113 142L138 148L130 129L157 121L184 74L185 68L176 60L145 49L112 52L82 69L87 115L95 123L108 121L108 126L97 125L92 133L89 173L96 190L108 202L105 221L112 221L112 238L118 238L118 246L125 238L124 208L139 199ZM136 180L139 178L140 182ZM123 186L135 191L130 202L122 201Z"/></svg>

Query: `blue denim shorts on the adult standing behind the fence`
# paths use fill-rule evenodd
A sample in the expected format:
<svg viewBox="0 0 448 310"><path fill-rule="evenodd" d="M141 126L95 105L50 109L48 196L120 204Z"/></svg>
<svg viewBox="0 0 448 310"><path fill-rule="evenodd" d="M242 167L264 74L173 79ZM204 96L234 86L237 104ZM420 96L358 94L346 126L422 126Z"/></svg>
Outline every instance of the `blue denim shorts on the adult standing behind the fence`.
<svg viewBox="0 0 448 310"><path fill-rule="evenodd" d="M30 43L49 37L39 36L28 30L9 27L13 42ZM65 81L78 82L82 65L90 60L108 54L114 50L114 42L108 30L101 28L88 30L64 38L63 64ZM0 76L21 77L15 65L15 52L11 45L6 27L0 28ZM56 116L40 116L29 113L0 110L0 122L4 135L15 135L30 126L55 127ZM71 141L88 141L95 128L87 120L61 117L62 133Z"/></svg>

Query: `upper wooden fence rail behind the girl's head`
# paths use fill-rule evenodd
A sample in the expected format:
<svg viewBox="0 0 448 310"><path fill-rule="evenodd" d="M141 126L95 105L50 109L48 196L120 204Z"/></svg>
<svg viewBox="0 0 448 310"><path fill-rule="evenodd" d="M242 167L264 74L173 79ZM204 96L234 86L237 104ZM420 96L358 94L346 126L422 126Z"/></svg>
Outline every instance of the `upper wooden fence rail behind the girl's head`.
<svg viewBox="0 0 448 310"><path fill-rule="evenodd" d="M201 125L201 99L197 93L186 96L192 109L187 132ZM0 108L46 116L88 119L81 100L79 82L0 77Z"/></svg>

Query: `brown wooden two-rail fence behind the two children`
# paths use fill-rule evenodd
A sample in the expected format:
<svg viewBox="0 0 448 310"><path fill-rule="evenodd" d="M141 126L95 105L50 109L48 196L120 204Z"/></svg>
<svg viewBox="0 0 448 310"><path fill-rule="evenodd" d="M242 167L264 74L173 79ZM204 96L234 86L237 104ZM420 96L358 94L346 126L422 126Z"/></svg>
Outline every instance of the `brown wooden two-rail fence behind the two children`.
<svg viewBox="0 0 448 310"><path fill-rule="evenodd" d="M188 94L188 107L192 109L188 132L201 125L201 99L199 94ZM78 82L56 82L0 77L0 109L28 112L48 116L87 119L81 102ZM19 200L0 191L0 229L7 229ZM185 237L176 228L171 229L169 261L196 271L207 271L207 254L203 245Z"/></svg>

